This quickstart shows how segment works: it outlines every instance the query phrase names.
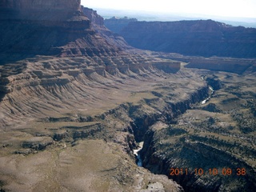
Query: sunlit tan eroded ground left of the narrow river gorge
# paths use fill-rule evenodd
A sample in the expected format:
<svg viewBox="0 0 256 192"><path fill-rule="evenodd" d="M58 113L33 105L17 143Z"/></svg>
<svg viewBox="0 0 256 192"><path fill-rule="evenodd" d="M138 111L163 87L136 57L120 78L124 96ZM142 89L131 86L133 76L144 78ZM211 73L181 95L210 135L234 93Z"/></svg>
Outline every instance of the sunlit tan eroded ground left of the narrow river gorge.
<svg viewBox="0 0 256 192"><path fill-rule="evenodd" d="M132 150L138 123L134 121L140 115L148 116L146 121L151 124L154 118L165 118L162 94L186 99L198 89L204 90L206 82L186 69L167 74L152 66L138 69L139 73L131 68L126 74L113 75L95 71L97 67L85 72L76 69L88 62L86 59L22 61L26 62L22 74L13 72L14 64L11 69L2 66L2 74L9 73L8 78L2 78L7 82L2 86L6 92L1 102L3 189L146 191L157 182L167 191L178 190L167 178L136 165ZM203 98L207 91L202 92ZM178 102L176 98L168 101ZM161 107L148 106L151 101L159 101Z"/></svg>

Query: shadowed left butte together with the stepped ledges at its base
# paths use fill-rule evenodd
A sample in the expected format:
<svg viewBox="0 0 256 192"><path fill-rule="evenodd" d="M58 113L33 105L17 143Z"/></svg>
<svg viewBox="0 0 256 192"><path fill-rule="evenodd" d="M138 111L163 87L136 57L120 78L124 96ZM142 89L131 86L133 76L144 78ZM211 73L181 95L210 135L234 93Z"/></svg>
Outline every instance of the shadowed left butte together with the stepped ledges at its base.
<svg viewBox="0 0 256 192"><path fill-rule="evenodd" d="M149 76L150 72L155 74L163 70L170 73L180 69L179 62L159 61L126 52L129 46L123 38L102 26L103 18L94 10L80 10L77 1L65 1L62 6L58 6L55 1L35 2L37 3L2 2L2 9L11 10L14 15L20 14L20 11L30 15L29 18L0 20L0 98L3 100L10 96L8 94L19 89L48 87L54 84L60 88L72 84L74 78L80 76L84 80L79 83L84 86L87 78L94 82L95 76L101 82L103 78L111 75L137 78L139 75ZM37 9L38 3L41 3L42 8ZM51 6L52 8L48 9ZM40 18L34 18L34 13ZM42 20L41 16L47 19ZM55 16L60 17L59 20L56 20ZM38 58L35 58L35 55L38 55ZM46 57L45 64L41 57ZM47 57L50 57L50 60ZM69 58L62 61L62 58L66 57L74 60L76 57L82 58L78 59L78 62L72 59L70 61ZM29 62L28 58L31 58L32 62ZM61 64L58 65L54 58ZM36 61L38 65L34 64ZM31 92L34 93L34 90ZM8 122L8 119L2 119L2 122Z"/></svg>

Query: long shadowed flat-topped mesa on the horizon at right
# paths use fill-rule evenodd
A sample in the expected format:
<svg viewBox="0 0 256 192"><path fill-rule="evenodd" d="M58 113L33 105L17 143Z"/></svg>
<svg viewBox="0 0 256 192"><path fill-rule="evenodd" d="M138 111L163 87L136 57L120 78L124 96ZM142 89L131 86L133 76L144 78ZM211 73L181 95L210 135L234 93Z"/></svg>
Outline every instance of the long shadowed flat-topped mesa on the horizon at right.
<svg viewBox="0 0 256 192"><path fill-rule="evenodd" d="M212 20L130 22L120 34L131 46L144 50L256 58L256 29Z"/></svg>

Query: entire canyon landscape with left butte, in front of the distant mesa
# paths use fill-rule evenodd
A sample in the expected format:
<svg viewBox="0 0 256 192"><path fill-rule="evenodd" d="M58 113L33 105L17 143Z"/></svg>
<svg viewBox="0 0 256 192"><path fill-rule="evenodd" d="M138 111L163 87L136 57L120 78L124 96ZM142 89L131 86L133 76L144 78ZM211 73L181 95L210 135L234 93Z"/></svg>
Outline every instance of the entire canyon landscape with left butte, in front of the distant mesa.
<svg viewBox="0 0 256 192"><path fill-rule="evenodd" d="M0 3L0 191L254 191L254 58L138 50L60 2Z"/></svg>

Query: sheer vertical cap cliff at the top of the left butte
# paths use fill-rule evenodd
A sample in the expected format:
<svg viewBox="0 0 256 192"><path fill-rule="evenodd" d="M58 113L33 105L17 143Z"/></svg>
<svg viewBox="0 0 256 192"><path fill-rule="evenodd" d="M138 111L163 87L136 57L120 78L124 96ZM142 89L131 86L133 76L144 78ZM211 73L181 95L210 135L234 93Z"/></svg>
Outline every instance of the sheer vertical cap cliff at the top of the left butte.
<svg viewBox="0 0 256 192"><path fill-rule="evenodd" d="M80 10L80 0L3 0L0 2L1 19L66 20Z"/></svg>

